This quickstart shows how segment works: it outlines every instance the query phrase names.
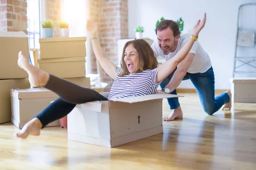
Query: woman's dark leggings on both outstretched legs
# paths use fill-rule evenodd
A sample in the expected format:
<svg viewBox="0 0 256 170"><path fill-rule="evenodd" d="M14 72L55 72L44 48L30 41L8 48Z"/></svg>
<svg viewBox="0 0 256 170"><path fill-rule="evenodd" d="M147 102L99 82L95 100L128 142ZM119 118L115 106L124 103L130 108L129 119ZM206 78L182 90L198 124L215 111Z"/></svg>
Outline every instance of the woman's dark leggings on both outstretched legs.
<svg viewBox="0 0 256 170"><path fill-rule="evenodd" d="M90 88L83 88L51 74L47 85L43 87L60 96L60 98L56 99L41 113L35 116L41 121L43 127L55 120L67 116L67 114L75 108L76 104L108 100L97 91Z"/></svg>

